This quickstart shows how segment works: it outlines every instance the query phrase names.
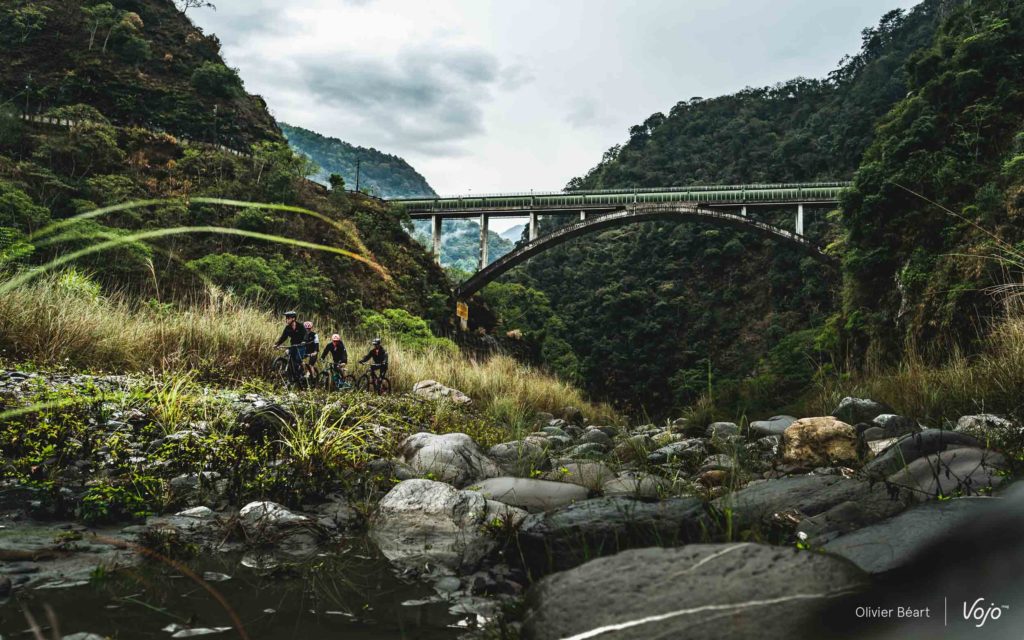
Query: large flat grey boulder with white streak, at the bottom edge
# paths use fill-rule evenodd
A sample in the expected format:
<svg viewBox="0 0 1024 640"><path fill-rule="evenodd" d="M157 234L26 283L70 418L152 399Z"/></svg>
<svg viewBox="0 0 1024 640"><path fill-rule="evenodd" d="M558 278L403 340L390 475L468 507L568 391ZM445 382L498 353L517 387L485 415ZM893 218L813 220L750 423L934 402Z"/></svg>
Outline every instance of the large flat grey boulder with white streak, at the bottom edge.
<svg viewBox="0 0 1024 640"><path fill-rule="evenodd" d="M767 545L635 549L542 580L527 595L522 638L815 637L806 629L819 606L866 587L845 560ZM599 631L616 626L628 627Z"/></svg>

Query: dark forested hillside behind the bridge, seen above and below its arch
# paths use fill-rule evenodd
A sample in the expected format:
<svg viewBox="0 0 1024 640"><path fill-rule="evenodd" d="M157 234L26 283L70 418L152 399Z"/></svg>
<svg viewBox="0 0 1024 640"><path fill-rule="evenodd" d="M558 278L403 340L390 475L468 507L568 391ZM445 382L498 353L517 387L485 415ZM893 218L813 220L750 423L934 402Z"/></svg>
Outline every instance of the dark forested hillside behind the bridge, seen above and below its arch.
<svg viewBox="0 0 1024 640"><path fill-rule="evenodd" d="M826 79L682 101L654 114L568 187L849 179L876 121L906 95L908 59L931 45L954 4L928 0L887 13ZM828 244L841 229L824 214L811 214L807 232ZM793 211L758 215L793 224ZM840 273L752 233L623 227L545 253L513 278L544 292L558 324L568 327L577 357L562 361L578 370L565 373L634 409L660 414L710 387L740 412L777 408L806 390L831 357L819 328L839 308L833 292ZM518 304L506 296L502 308L514 314Z"/></svg>

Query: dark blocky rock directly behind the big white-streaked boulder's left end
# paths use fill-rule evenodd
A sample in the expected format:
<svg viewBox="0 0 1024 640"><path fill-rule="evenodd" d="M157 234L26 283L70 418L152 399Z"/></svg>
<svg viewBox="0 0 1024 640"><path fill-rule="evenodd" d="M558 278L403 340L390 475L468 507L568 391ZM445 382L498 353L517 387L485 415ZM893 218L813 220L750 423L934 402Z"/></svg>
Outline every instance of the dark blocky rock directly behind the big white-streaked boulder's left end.
<svg viewBox="0 0 1024 640"><path fill-rule="evenodd" d="M699 540L703 513L696 498L656 503L595 498L529 515L519 527L517 543L530 571L564 570L624 549Z"/></svg>

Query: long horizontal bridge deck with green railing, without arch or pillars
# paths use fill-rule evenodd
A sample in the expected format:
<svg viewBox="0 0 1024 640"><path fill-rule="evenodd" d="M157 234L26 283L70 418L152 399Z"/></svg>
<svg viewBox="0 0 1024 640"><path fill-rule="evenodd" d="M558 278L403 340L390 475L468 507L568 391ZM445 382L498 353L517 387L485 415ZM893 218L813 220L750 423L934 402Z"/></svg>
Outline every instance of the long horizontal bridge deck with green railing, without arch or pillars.
<svg viewBox="0 0 1024 640"><path fill-rule="evenodd" d="M409 198L401 205L413 218L523 215L534 212L607 212L638 204L690 204L698 207L834 204L849 182L736 184L665 188L608 189L546 194L497 194L447 198Z"/></svg>

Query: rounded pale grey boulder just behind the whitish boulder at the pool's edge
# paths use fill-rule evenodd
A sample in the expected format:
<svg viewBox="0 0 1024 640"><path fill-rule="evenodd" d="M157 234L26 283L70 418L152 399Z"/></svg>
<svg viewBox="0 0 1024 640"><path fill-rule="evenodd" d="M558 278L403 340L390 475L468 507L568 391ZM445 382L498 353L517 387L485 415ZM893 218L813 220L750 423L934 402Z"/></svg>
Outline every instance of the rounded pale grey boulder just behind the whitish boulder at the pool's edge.
<svg viewBox="0 0 1024 640"><path fill-rule="evenodd" d="M466 486L502 474L465 433L416 433L399 447L404 461L422 476Z"/></svg>

